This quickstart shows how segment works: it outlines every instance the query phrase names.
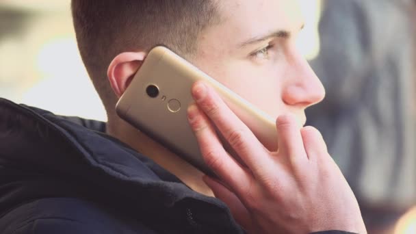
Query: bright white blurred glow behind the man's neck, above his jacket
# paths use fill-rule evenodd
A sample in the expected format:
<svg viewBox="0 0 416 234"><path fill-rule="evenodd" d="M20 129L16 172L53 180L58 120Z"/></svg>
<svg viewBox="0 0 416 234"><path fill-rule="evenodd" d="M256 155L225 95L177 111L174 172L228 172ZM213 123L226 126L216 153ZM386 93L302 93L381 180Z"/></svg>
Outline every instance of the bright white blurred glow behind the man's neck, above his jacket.
<svg viewBox="0 0 416 234"><path fill-rule="evenodd" d="M38 55L37 68L45 78L27 91L23 103L55 114L106 120L74 39L57 39L45 44Z"/></svg>

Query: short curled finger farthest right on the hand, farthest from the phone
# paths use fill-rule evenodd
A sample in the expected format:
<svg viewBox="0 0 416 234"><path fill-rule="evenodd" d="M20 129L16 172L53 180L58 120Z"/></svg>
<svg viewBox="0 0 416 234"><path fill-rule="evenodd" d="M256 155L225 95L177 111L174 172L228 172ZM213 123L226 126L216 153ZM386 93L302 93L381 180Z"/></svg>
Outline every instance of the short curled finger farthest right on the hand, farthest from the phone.
<svg viewBox="0 0 416 234"><path fill-rule="evenodd" d="M320 131L308 126L304 127L300 132L309 160L315 161L318 157L328 156L328 148Z"/></svg>

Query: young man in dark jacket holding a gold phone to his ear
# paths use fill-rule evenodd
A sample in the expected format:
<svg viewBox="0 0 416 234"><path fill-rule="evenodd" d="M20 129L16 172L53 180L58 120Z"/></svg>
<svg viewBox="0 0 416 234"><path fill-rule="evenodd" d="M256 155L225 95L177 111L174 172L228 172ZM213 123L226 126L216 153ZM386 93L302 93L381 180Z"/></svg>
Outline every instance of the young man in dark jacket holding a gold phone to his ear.
<svg viewBox="0 0 416 234"><path fill-rule="evenodd" d="M108 122L1 101L4 233L365 233L322 136L299 124L324 89L295 47L296 1L73 0L72 8ZM190 125L221 181L118 118L116 101L156 44L279 116L278 152L203 83L192 89ZM227 155L213 125L247 167Z"/></svg>

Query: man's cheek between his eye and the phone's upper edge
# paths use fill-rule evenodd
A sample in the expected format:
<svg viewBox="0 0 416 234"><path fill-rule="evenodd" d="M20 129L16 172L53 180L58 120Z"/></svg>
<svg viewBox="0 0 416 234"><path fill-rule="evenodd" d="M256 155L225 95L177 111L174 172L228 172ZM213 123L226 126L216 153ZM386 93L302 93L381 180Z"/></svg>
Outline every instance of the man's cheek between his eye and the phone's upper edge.
<svg viewBox="0 0 416 234"><path fill-rule="evenodd" d="M272 118L289 111L282 99L285 77L282 64L255 66L244 60L215 60L206 56L194 64Z"/></svg>

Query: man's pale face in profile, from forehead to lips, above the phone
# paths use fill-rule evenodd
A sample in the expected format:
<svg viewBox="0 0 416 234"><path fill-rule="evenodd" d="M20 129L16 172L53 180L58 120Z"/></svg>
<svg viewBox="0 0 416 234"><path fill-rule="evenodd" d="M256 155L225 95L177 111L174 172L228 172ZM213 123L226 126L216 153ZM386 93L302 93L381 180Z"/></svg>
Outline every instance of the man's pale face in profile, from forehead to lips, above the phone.
<svg viewBox="0 0 416 234"><path fill-rule="evenodd" d="M203 31L193 63L270 116L322 101L324 87L296 48L304 25L295 0L220 1L222 23Z"/></svg>

